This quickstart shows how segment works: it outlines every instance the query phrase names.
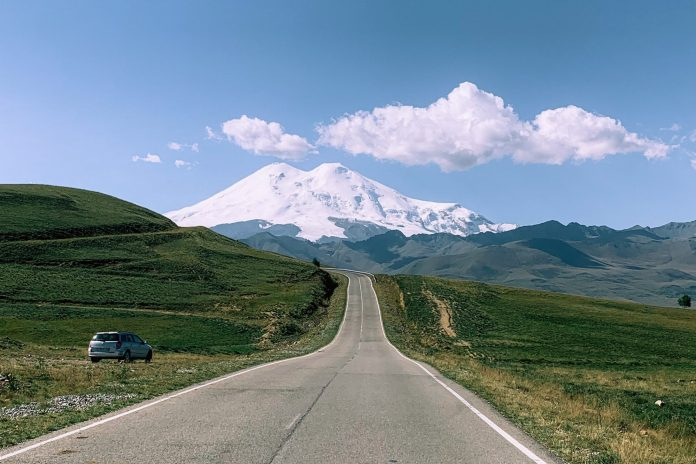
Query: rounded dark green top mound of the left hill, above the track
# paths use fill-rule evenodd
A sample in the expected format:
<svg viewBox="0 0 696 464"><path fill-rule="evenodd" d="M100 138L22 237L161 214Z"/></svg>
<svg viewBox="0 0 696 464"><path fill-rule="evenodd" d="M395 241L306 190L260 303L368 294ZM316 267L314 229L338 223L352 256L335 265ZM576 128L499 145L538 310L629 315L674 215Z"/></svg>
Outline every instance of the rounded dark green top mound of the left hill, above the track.
<svg viewBox="0 0 696 464"><path fill-rule="evenodd" d="M0 185L0 240L48 239L174 229L169 219L88 190Z"/></svg>

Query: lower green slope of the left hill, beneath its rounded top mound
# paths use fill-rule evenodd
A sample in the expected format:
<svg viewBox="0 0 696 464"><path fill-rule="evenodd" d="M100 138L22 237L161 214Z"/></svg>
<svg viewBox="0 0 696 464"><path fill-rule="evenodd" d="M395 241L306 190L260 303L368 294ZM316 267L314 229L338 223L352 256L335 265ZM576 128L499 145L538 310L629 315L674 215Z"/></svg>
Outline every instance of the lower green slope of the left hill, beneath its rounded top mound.
<svg viewBox="0 0 696 464"><path fill-rule="evenodd" d="M0 242L0 302L302 317L328 274L204 228ZM314 308L315 309L315 308Z"/></svg>

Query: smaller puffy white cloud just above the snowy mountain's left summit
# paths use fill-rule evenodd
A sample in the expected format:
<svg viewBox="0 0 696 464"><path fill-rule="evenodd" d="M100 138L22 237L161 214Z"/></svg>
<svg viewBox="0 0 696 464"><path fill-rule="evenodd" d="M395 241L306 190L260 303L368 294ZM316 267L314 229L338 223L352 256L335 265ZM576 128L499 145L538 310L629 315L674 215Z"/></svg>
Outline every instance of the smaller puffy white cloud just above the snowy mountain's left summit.
<svg viewBox="0 0 696 464"><path fill-rule="evenodd" d="M304 137L285 133L277 122L246 115L224 122L222 132L231 142L257 155L298 160L314 149Z"/></svg>

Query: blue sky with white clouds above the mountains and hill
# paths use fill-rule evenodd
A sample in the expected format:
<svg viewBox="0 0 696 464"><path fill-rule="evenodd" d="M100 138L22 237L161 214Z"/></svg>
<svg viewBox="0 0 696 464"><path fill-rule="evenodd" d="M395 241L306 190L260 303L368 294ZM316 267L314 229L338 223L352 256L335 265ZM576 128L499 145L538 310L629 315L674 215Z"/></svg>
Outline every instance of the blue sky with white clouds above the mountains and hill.
<svg viewBox="0 0 696 464"><path fill-rule="evenodd" d="M0 2L0 183L158 212L340 162L496 222L696 219L696 2Z"/></svg>

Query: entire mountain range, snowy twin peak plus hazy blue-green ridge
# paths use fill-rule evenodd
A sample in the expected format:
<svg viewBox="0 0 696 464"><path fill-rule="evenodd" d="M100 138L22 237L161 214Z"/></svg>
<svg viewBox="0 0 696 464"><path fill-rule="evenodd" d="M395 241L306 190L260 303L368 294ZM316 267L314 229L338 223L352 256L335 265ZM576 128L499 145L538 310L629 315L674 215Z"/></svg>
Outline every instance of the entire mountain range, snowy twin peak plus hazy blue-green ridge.
<svg viewBox="0 0 696 464"><path fill-rule="evenodd" d="M696 221L660 227L497 224L415 200L338 163L268 165L167 217L328 266L478 280L673 306L696 294Z"/></svg>

